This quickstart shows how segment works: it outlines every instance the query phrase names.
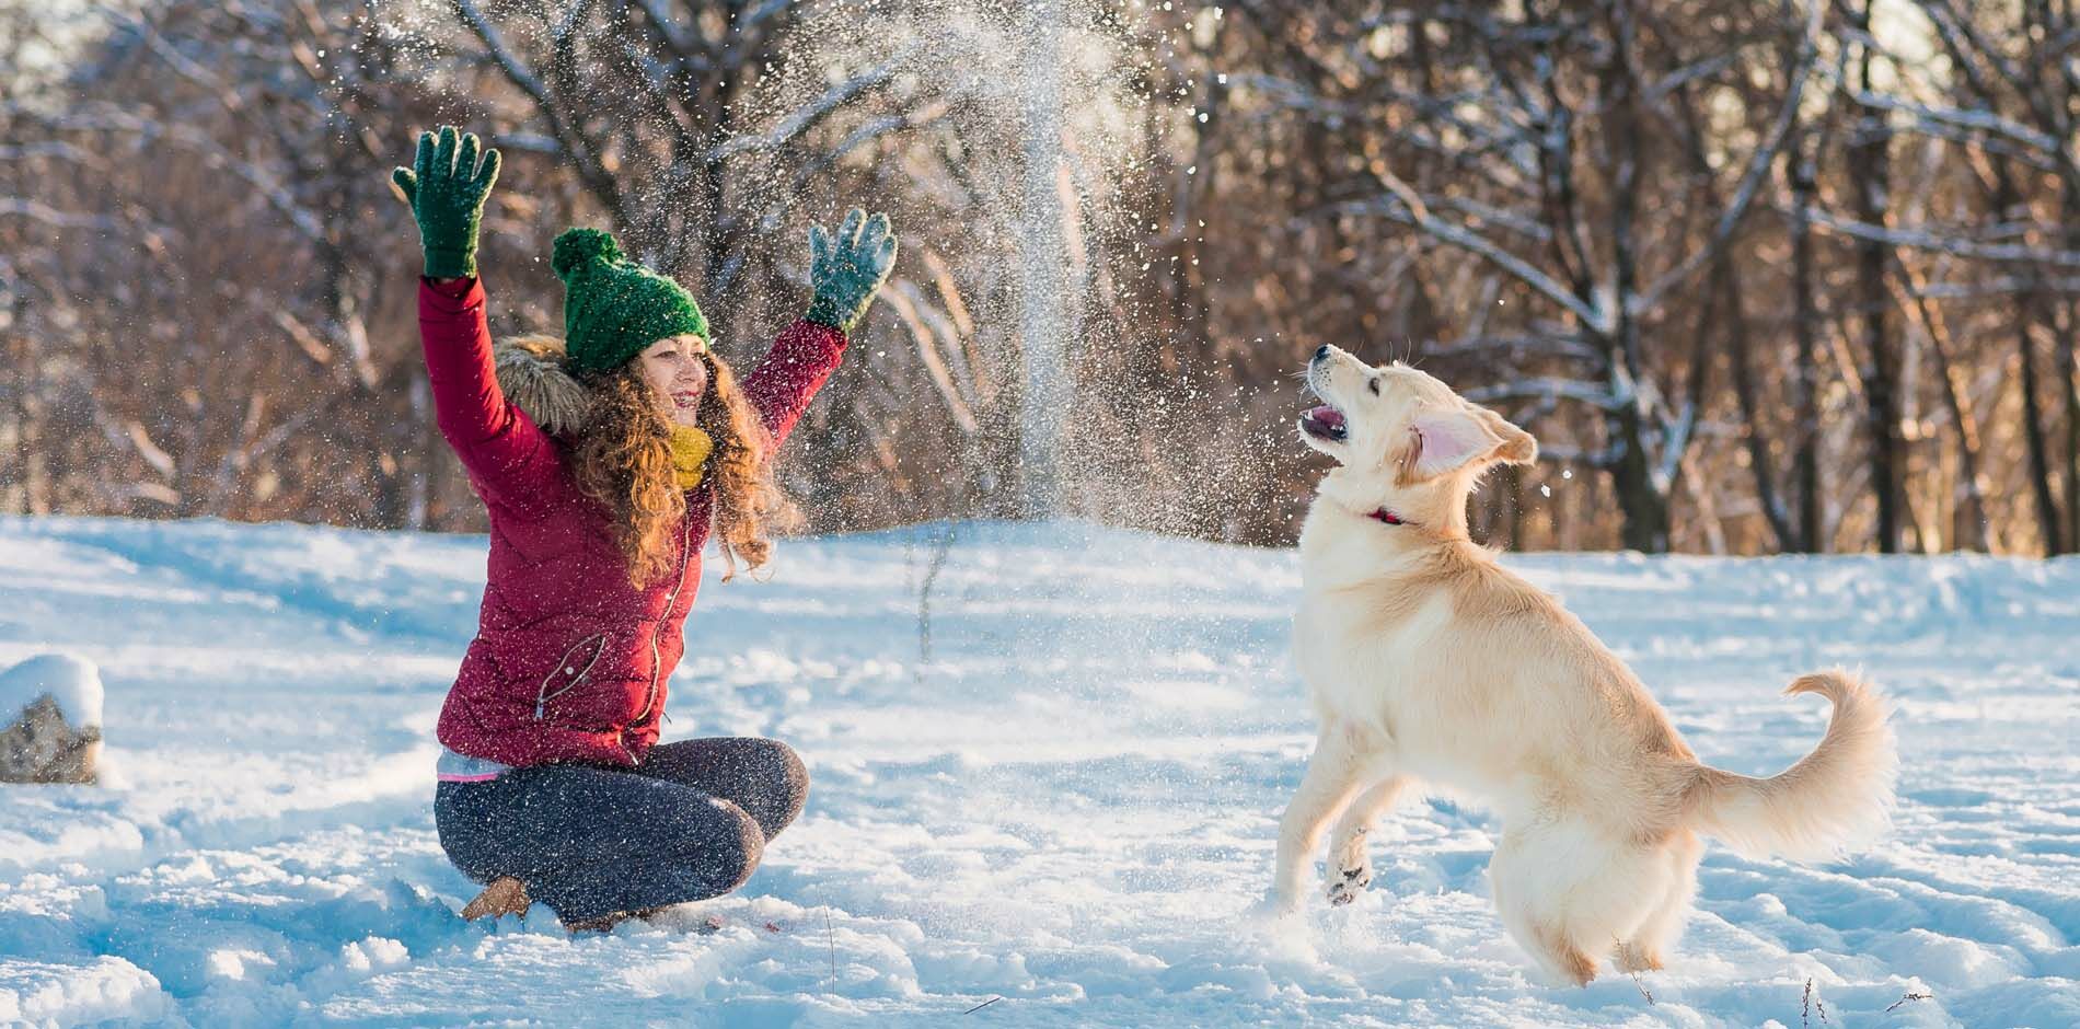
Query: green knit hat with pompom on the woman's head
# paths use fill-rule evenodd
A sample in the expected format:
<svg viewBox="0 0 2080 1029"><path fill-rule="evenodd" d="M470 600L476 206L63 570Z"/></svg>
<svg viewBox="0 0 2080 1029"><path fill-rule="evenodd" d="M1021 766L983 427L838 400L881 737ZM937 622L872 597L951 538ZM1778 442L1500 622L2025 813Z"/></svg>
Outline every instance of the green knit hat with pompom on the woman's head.
<svg viewBox="0 0 2080 1029"><path fill-rule="evenodd" d="M566 229L549 268L564 281L564 353L574 372L612 372L666 337L707 339L693 293L624 258L599 229Z"/></svg>

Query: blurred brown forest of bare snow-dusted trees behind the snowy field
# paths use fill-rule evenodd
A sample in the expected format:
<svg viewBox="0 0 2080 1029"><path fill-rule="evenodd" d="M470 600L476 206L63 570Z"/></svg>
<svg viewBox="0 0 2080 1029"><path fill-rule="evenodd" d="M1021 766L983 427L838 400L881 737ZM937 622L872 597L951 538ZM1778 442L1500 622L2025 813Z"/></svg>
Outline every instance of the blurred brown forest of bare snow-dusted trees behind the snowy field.
<svg viewBox="0 0 2080 1029"><path fill-rule="evenodd" d="M1288 543L1337 343L1539 437L1475 499L1512 547L2080 549L2072 0L0 0L0 511L480 530L387 181L456 123L505 152L499 333L601 225L743 368L807 225L888 210L788 489L1036 513L1048 98L1052 513Z"/></svg>

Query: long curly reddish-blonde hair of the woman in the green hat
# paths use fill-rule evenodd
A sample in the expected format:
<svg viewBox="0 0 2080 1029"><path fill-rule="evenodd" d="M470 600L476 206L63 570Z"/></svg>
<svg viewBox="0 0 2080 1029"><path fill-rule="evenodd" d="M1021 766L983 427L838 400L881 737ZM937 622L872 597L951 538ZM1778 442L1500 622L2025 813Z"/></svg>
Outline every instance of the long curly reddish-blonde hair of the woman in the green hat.
<svg viewBox="0 0 2080 1029"><path fill-rule="evenodd" d="M757 570L772 557L774 528L799 520L772 472L772 445L757 410L736 385L736 374L709 351L707 393L695 424L716 443L701 489L713 489L713 536L728 563L724 582L736 578L738 559ZM651 393L636 362L587 376L591 410L568 441L578 491L599 501L612 520L614 543L628 561L636 588L668 576L674 565L672 526L686 516L686 495L672 470L672 422Z"/></svg>

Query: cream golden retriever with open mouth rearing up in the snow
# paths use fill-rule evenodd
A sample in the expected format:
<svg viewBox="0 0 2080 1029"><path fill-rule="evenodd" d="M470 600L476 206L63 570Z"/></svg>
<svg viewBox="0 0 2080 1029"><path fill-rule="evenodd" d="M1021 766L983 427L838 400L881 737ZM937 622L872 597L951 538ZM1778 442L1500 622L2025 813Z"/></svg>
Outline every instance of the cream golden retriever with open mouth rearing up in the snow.
<svg viewBox="0 0 2080 1029"><path fill-rule="evenodd" d="M1897 759L1872 686L1795 680L1785 692L1835 711L1778 775L1701 765L1581 619L1466 538L1466 495L1496 464L1531 464L1529 432L1400 362L1321 347L1306 380L1325 403L1300 434L1335 459L1300 530L1294 617L1321 736L1279 821L1273 913L1298 911L1331 819L1329 900L1356 898L1367 827L1435 788L1500 817L1487 871L1502 925L1554 981L1587 983L1606 956L1662 967L1699 834L1824 859L1884 827Z"/></svg>

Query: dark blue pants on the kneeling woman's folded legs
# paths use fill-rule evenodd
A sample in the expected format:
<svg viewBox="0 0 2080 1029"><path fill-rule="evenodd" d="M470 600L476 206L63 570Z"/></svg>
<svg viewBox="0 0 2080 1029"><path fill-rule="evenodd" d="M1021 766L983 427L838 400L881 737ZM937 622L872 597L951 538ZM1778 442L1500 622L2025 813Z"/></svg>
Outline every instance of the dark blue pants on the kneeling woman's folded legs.
<svg viewBox="0 0 2080 1029"><path fill-rule="evenodd" d="M433 821L464 875L512 875L564 921L684 904L736 890L809 796L776 740L659 744L634 769L539 765L443 782Z"/></svg>

